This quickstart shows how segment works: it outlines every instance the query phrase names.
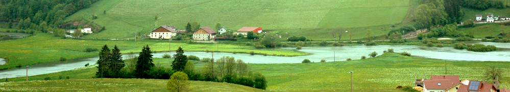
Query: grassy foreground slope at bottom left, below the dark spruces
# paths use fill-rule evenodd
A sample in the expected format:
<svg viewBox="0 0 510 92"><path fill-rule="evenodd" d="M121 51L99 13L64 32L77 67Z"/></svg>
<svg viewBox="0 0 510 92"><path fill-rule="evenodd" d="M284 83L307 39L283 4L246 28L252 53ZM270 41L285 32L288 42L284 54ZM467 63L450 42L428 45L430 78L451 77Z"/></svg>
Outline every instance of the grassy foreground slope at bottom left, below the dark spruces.
<svg viewBox="0 0 510 92"><path fill-rule="evenodd" d="M165 79L63 79L3 82L0 91L167 91ZM190 81L191 91L264 91L261 89L206 81Z"/></svg>

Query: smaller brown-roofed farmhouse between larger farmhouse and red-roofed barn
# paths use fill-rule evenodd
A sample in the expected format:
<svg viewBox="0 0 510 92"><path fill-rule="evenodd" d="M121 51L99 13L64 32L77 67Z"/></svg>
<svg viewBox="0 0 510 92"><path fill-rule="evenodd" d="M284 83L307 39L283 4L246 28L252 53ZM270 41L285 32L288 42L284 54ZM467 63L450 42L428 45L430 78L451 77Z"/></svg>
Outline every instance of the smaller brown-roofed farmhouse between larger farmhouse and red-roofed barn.
<svg viewBox="0 0 510 92"><path fill-rule="evenodd" d="M193 40L209 41L216 36L216 32L209 27L202 27L193 32Z"/></svg>

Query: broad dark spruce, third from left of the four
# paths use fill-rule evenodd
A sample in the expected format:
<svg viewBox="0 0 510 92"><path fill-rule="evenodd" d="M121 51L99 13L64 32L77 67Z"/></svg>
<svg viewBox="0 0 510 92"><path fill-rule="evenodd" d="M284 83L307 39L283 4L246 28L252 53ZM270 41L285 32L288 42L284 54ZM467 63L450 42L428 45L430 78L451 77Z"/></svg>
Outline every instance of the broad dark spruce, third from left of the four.
<svg viewBox="0 0 510 92"><path fill-rule="evenodd" d="M138 55L138 60L136 61L135 73L138 78L148 78L147 72L154 67L152 63L152 54L151 48L149 45L143 46L140 55Z"/></svg>

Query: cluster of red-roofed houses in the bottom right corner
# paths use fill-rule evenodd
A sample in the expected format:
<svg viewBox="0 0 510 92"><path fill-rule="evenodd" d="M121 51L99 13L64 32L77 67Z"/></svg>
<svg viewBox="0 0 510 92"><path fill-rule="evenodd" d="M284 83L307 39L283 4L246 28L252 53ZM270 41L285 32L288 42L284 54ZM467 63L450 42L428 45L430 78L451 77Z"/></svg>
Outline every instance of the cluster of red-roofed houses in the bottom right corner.
<svg viewBox="0 0 510 92"><path fill-rule="evenodd" d="M459 80L458 76L432 76L430 79L416 79L415 89L424 92L510 92L500 88L498 78L491 83L484 80Z"/></svg>

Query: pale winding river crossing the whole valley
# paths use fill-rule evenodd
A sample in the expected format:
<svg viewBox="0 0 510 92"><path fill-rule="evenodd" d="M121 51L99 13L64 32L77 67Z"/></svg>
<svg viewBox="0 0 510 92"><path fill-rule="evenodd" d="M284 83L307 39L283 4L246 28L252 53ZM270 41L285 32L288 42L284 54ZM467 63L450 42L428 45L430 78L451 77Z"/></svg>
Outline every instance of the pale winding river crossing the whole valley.
<svg viewBox="0 0 510 92"><path fill-rule="evenodd" d="M214 58L222 56L234 56L236 59L242 59L245 63L249 64L282 64L282 63L301 63L303 59L310 59L312 62L320 62L325 59L327 62L333 60L342 61L347 58L360 59L361 56L368 56L369 53L376 51L379 55L384 50L393 48L395 52L406 51L413 56L436 58L446 60L472 60L472 61L501 61L510 62L510 43L492 43L492 42L474 42L485 45L495 45L500 48L497 51L491 52L473 52L464 50L453 49L452 47L427 47L415 45L378 45L378 46L342 46L342 47L303 47L302 52L310 53L303 56L264 56L264 55L250 55L250 54L234 54L226 52L215 52ZM295 49L295 48L281 48L281 49ZM334 51L334 53L333 53ZM162 57L163 54L175 54L175 52L157 52L153 53L153 57ZM212 53L209 52L195 52L186 51L186 55L196 55L200 58L212 58ZM127 56L127 55L123 55ZM126 57L124 57L126 58ZM84 67L85 64L95 64L99 57L87 57L69 59L64 62L51 62L31 65L29 67L29 76L54 73L59 71L72 70L75 68ZM12 78L26 76L25 67L13 68L9 70L0 71L0 78Z"/></svg>

